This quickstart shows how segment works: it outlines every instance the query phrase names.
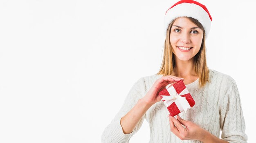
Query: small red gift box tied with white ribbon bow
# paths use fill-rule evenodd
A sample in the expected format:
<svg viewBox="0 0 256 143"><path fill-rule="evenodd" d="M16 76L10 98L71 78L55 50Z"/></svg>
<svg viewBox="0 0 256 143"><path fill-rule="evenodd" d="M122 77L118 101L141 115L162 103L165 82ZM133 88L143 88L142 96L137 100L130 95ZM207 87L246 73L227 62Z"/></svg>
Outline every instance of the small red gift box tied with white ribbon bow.
<svg viewBox="0 0 256 143"><path fill-rule="evenodd" d="M195 105L195 101L182 80L160 91L158 95L162 98L171 116L175 116L182 111L186 112L188 108Z"/></svg>

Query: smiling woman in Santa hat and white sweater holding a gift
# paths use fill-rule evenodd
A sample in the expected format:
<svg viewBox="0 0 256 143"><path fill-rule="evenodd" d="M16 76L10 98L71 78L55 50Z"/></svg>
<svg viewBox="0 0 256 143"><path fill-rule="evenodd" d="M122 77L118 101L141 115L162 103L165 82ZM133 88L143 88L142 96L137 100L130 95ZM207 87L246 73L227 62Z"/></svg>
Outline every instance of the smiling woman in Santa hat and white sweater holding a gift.
<svg viewBox="0 0 256 143"><path fill-rule="evenodd" d="M246 143L245 121L236 82L207 68L205 39L211 15L193 0L181 0L165 14L166 40L160 71L140 78L119 113L102 134L102 142L127 143L146 119L150 143ZM195 105L177 119L158 95L183 80ZM220 130L222 130L219 139Z"/></svg>

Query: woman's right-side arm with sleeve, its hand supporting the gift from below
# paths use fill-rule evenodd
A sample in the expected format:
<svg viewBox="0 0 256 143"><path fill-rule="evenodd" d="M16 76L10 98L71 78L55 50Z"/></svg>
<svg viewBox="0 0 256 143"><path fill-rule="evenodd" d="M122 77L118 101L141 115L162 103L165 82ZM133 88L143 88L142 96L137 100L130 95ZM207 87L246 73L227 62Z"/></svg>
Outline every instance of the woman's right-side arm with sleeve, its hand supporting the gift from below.
<svg viewBox="0 0 256 143"><path fill-rule="evenodd" d="M225 88L222 93L224 97L220 98L222 99L222 111L220 111L222 139L191 121L185 121L180 116L177 116L177 119L169 116L171 131L181 140L193 139L204 143L246 143L245 120L236 82L228 76L227 82L223 83L223 87Z"/></svg>

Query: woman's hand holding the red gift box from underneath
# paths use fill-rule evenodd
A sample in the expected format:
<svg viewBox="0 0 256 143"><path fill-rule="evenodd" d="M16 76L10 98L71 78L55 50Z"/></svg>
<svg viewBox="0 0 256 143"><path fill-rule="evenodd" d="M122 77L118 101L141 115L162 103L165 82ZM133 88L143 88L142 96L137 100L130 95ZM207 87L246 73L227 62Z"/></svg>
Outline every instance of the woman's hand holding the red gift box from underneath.
<svg viewBox="0 0 256 143"><path fill-rule="evenodd" d="M171 131L181 140L203 140L206 130L204 130L197 124L194 124L191 121L186 121L182 119L179 115L177 115L177 119L169 115L169 121ZM186 128L184 128L182 125L186 126Z"/></svg>

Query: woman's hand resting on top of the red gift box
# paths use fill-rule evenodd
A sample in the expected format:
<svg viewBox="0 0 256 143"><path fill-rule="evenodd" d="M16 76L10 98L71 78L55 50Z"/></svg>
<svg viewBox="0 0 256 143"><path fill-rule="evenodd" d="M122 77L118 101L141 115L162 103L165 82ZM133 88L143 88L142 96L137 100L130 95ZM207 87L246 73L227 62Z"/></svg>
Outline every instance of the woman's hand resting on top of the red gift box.
<svg viewBox="0 0 256 143"><path fill-rule="evenodd" d="M171 83L178 82L180 80L184 80L183 78L178 78L176 76L162 76L161 78L157 79L153 86L149 89L148 93L142 98L146 104L155 104L156 102L161 101L161 97L158 95L162 89Z"/></svg>

